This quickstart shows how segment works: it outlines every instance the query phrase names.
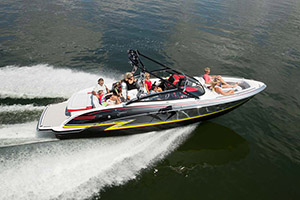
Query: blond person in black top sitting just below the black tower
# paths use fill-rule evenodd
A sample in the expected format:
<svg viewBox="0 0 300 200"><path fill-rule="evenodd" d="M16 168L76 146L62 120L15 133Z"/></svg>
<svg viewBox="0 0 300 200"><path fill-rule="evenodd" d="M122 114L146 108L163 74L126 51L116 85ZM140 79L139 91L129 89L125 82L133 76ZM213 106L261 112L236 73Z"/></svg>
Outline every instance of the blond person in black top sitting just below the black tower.
<svg viewBox="0 0 300 200"><path fill-rule="evenodd" d="M137 95L137 84L136 79L134 79L133 74L131 72L127 72L124 75L124 80L122 80L122 96L125 100L130 100Z"/></svg>

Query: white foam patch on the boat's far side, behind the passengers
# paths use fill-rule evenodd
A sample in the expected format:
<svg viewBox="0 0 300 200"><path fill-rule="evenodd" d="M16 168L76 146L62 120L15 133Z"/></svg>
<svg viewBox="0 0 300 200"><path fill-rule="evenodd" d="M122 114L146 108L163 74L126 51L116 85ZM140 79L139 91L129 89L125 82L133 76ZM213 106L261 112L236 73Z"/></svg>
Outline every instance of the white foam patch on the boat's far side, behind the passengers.
<svg viewBox="0 0 300 200"><path fill-rule="evenodd" d="M0 96L35 98L69 98L74 92L93 87L100 75L70 69L53 68L47 64L30 67L0 68ZM115 80L102 76L110 86Z"/></svg>

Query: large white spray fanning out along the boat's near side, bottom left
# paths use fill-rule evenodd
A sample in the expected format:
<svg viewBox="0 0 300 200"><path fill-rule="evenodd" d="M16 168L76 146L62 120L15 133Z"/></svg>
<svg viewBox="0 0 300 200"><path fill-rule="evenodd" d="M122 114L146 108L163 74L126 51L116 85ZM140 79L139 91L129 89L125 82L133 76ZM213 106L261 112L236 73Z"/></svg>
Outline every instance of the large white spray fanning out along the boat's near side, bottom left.
<svg viewBox="0 0 300 200"><path fill-rule="evenodd" d="M2 149L0 179L5 182L0 186L0 199L91 197L104 187L136 178L194 128Z"/></svg>

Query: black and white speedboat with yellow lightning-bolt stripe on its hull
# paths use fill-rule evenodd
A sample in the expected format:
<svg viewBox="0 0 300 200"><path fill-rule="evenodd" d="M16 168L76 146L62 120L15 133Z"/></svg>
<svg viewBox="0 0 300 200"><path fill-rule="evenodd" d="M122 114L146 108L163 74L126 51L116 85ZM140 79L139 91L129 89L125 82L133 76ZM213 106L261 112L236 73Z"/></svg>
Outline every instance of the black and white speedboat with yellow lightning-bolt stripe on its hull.
<svg viewBox="0 0 300 200"><path fill-rule="evenodd" d="M260 81L222 76L229 84L238 83L233 88L234 94L224 96L212 91L202 77L172 69L138 50L129 50L128 58L140 83L133 98L117 105L104 106L93 103L93 88L87 88L65 102L48 105L37 130L54 132L57 138L68 139L169 129L228 113L266 88ZM142 59L156 67L146 68ZM145 72L151 75L154 85L162 87L161 92L143 92L141 83Z"/></svg>

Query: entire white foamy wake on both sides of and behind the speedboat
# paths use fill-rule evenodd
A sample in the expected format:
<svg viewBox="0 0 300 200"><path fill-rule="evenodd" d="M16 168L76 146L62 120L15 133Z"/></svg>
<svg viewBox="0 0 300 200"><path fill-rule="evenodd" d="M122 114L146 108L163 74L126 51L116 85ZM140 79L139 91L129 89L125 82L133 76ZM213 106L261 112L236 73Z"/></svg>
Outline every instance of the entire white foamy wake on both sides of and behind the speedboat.
<svg viewBox="0 0 300 200"><path fill-rule="evenodd" d="M110 85L115 80L102 76ZM46 64L0 68L0 97L69 98L92 87L99 76ZM1 112L42 110L42 106L1 105ZM174 150L195 128L114 138L40 138L37 121L0 125L0 199L84 199L124 184ZM51 141L51 142L49 142ZM53 142L54 141L54 142Z"/></svg>

